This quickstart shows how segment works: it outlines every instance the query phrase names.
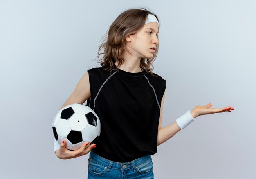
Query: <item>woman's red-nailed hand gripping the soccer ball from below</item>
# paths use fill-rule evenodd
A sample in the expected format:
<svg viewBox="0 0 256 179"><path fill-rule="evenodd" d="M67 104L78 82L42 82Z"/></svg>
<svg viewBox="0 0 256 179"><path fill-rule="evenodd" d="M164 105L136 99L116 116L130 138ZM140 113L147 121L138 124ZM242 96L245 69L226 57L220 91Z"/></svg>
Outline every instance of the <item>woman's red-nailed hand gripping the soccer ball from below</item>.
<svg viewBox="0 0 256 179"><path fill-rule="evenodd" d="M81 148L70 151L65 147L66 141L63 140L61 142L61 147L56 151L56 155L60 159L71 159L76 158L85 154L88 154L93 148L96 148L96 144L91 144L87 146L89 143L85 143L81 146Z"/></svg>

